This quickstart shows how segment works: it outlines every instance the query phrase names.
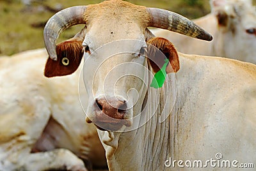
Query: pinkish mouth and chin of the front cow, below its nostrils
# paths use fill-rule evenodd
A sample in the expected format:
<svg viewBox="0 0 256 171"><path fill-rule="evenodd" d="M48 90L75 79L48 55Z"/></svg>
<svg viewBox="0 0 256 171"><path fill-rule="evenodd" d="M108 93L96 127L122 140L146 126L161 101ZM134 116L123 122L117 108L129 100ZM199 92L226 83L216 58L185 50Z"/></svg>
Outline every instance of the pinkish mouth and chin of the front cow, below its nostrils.
<svg viewBox="0 0 256 171"><path fill-rule="evenodd" d="M98 114L93 118L86 116L86 123L93 123L102 131L122 131L125 127L132 125L131 119L114 119L104 114L101 116Z"/></svg>

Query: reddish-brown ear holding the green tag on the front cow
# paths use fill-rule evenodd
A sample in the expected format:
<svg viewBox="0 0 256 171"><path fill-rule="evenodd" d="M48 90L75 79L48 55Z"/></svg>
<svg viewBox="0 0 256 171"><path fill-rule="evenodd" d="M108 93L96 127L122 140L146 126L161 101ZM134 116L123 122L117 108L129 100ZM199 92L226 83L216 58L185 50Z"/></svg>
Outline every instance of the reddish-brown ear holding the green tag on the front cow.
<svg viewBox="0 0 256 171"><path fill-rule="evenodd" d="M151 38L147 41L148 61L155 73L164 65L164 59L169 59L166 67L166 73L177 72L180 69L179 56L173 44L165 38ZM153 45L153 46L151 46ZM161 50L161 52L157 52Z"/></svg>

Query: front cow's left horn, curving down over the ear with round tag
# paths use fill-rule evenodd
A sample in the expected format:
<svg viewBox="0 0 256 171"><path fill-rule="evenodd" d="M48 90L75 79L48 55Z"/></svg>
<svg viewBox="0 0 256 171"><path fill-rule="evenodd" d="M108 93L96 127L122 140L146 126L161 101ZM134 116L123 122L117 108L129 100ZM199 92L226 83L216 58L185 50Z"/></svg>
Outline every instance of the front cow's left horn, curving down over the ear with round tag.
<svg viewBox="0 0 256 171"><path fill-rule="evenodd" d="M56 40L60 33L68 27L85 24L84 12L87 6L73 6L59 11L48 20L44 27L44 43L49 57L57 60Z"/></svg>

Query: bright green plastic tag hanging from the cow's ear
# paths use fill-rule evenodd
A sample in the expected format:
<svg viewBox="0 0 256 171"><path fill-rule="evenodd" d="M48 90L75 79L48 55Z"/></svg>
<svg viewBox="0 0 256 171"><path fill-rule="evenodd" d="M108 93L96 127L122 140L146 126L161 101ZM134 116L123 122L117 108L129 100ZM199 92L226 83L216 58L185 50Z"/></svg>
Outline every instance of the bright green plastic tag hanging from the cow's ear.
<svg viewBox="0 0 256 171"><path fill-rule="evenodd" d="M154 87L155 89L158 89L159 87L163 86L164 80L165 80L165 77L166 77L166 71L165 70L166 70L166 66L167 66L168 62L169 62L168 59L164 59L164 65L161 68L161 70L159 70L155 74L155 76L154 76L154 78L153 78L153 80L150 84L150 87Z"/></svg>

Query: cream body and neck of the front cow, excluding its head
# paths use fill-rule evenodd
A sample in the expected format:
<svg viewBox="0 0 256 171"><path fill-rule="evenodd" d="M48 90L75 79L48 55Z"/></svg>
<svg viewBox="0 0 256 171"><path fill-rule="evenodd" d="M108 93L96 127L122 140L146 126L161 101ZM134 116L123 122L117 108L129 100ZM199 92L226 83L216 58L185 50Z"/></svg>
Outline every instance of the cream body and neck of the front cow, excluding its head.
<svg viewBox="0 0 256 171"><path fill-rule="evenodd" d="M152 106L158 97L170 96L164 91L177 90L175 107L163 123L159 122L159 115L164 101L160 101L157 113L138 130L98 130L109 170L225 170L211 167L211 163L205 168L177 165L179 160L183 166L186 160L192 166L194 161L201 160L204 166L207 160L216 160L218 153L223 155L220 162L237 160L237 167L241 163L254 163L255 167L256 66L181 53L179 60L176 86L172 86L170 76L160 93L150 89L155 94L150 101ZM165 163L171 167L165 167ZM230 165L232 170L241 169Z"/></svg>

